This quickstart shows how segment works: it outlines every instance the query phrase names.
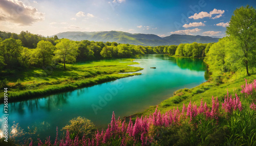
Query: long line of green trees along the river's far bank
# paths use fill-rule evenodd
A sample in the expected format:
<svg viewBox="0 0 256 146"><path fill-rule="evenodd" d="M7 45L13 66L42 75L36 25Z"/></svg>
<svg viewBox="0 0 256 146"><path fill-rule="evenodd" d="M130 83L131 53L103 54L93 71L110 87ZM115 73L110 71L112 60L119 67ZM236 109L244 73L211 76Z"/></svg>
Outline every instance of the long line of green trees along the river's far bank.
<svg viewBox="0 0 256 146"><path fill-rule="evenodd" d="M46 38L28 31L20 34L0 31L0 68L41 67L56 62L63 63L66 68L66 63L77 60L127 58L155 53L201 58L207 46L209 44L194 42L152 47L117 42L72 41L57 36Z"/></svg>

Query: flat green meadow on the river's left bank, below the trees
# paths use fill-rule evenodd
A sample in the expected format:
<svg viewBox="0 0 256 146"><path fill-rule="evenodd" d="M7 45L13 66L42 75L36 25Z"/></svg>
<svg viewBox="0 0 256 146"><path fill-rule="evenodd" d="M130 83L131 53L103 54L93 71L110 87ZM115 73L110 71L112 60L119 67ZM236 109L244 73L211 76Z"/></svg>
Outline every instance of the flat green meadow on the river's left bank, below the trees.
<svg viewBox="0 0 256 146"><path fill-rule="evenodd" d="M138 63L133 62L133 59L101 60L67 64L66 70L63 69L63 64L58 64L15 72L12 76L1 76L0 80L2 88L8 88L9 101L18 101L140 75L140 73L119 74L143 69L129 66L132 64ZM5 72L1 73L5 74ZM0 92L0 94L4 93Z"/></svg>

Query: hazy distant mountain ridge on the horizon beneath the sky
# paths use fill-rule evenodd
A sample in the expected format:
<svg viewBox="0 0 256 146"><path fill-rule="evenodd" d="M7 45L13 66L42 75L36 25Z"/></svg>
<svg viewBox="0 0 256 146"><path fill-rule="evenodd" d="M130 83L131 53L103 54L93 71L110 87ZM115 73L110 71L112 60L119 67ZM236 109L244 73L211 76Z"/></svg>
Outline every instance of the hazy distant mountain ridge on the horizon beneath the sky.
<svg viewBox="0 0 256 146"><path fill-rule="evenodd" d="M193 36L172 34L167 37L159 37L154 34L131 34L121 31L101 31L101 32L62 32L56 34L58 38L68 38L75 41L90 40L103 42L128 43L144 46L158 45L179 45L180 43L209 43L218 42L219 38L209 36Z"/></svg>

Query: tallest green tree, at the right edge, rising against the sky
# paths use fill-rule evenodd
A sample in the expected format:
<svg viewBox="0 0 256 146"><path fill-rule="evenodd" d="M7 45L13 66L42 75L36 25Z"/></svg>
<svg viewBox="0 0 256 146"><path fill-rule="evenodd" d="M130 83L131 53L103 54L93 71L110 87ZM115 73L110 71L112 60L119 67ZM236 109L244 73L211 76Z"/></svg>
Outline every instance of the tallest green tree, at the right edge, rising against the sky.
<svg viewBox="0 0 256 146"><path fill-rule="evenodd" d="M226 34L238 45L242 51L243 65L247 75L249 67L255 65L255 41L256 41L256 9L253 7L240 7L233 12L227 27Z"/></svg>

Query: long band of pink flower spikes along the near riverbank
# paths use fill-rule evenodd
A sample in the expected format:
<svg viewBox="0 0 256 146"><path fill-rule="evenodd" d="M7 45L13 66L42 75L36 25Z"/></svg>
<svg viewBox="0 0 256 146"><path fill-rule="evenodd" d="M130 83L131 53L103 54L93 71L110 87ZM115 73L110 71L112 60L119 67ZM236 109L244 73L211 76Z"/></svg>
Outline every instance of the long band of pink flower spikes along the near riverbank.
<svg viewBox="0 0 256 146"><path fill-rule="evenodd" d="M119 118L115 119L115 113L113 112L111 123L108 129L97 131L93 138L82 137L79 140L78 136L75 139L70 138L70 133L67 131L66 137L58 140L57 136L53 145L102 145L111 144L112 140L121 140L121 145L135 144L140 142L142 145L147 145L154 142L156 136L156 129L161 127L170 127L172 125L180 125L185 119L189 121L194 120L199 114L205 115L206 118L218 118L219 116L219 101L212 97L211 109L207 107L206 102L201 105L191 105L191 101L186 107L183 104L182 111L178 107L173 110L166 111L161 114L160 110L155 110L153 114L149 116L137 117L135 123L130 119L129 124L125 123L125 120L121 121ZM40 139L38 139L38 145L44 145ZM31 141L30 145L33 142ZM45 145L51 145L50 137L45 141Z"/></svg>

